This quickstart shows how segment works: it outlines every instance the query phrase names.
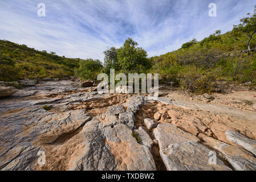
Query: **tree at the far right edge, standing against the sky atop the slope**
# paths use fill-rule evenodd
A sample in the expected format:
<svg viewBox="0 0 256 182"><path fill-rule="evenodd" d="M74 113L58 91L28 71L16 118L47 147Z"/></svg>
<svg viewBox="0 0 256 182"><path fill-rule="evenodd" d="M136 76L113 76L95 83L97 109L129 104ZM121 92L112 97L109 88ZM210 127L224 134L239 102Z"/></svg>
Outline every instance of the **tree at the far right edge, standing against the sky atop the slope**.
<svg viewBox="0 0 256 182"><path fill-rule="evenodd" d="M248 51L250 52L250 41L253 38L254 34L256 33L256 6L254 7L254 13L248 13L247 15L247 17L240 19L240 24L234 25L232 33L233 36L235 36L235 40L239 40L247 44ZM247 35L247 41L239 39L241 33L245 33Z"/></svg>

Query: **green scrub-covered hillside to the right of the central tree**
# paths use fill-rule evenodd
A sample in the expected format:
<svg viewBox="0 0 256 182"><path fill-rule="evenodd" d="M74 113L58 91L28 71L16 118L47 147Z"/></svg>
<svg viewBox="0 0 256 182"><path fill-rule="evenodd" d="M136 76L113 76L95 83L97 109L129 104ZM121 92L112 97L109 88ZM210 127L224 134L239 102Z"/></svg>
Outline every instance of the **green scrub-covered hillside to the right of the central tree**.
<svg viewBox="0 0 256 182"><path fill-rule="evenodd" d="M246 41L246 34L239 39ZM255 37L250 46L256 47ZM152 57L151 71L160 73L162 81L199 93L210 90L214 81L256 84L256 55L246 53L246 49L247 45L236 40L232 31L222 35L216 31L201 42L193 39L177 51Z"/></svg>

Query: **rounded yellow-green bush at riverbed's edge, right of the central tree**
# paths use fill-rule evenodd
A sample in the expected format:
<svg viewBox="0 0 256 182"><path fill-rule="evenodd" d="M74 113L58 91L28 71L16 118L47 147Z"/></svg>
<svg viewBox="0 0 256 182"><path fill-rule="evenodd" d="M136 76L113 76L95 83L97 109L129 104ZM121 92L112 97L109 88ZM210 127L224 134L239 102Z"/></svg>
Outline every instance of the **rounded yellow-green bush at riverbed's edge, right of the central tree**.
<svg viewBox="0 0 256 182"><path fill-rule="evenodd" d="M202 72L196 67L189 68L181 75L181 88L192 93L204 94L211 93L213 90L216 76L210 72Z"/></svg>

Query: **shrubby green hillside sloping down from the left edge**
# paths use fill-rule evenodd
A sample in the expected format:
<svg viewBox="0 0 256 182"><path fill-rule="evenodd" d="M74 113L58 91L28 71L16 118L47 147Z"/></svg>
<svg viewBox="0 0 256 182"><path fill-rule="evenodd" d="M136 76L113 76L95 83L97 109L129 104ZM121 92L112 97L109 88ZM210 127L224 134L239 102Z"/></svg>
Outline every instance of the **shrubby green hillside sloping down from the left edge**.
<svg viewBox="0 0 256 182"><path fill-rule="evenodd" d="M55 55L54 52L37 51L26 45L0 40L0 56L9 60L1 67L0 80L13 81L23 78L64 77L74 75L79 59ZM11 64L11 62L14 64Z"/></svg>

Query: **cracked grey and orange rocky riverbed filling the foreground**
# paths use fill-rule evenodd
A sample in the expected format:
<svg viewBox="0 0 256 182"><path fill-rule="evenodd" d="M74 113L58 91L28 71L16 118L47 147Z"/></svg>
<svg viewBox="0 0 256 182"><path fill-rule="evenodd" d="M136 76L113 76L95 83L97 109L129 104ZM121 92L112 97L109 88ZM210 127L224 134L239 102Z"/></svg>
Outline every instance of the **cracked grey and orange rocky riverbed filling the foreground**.
<svg viewBox="0 0 256 182"><path fill-rule="evenodd" d="M14 91L0 98L1 170L256 170L253 91L99 94L71 80ZM230 105L241 93L250 107Z"/></svg>

